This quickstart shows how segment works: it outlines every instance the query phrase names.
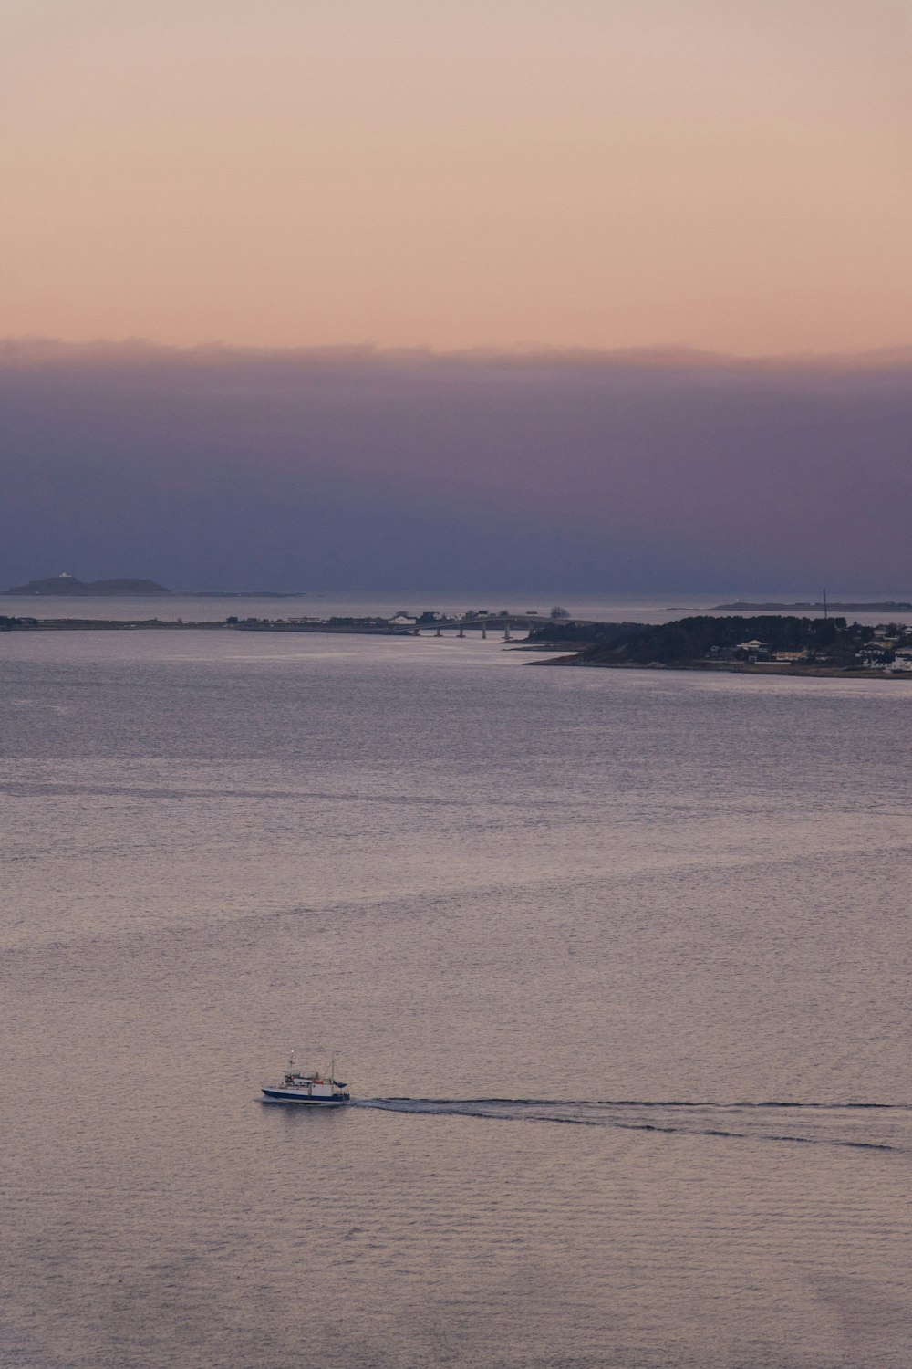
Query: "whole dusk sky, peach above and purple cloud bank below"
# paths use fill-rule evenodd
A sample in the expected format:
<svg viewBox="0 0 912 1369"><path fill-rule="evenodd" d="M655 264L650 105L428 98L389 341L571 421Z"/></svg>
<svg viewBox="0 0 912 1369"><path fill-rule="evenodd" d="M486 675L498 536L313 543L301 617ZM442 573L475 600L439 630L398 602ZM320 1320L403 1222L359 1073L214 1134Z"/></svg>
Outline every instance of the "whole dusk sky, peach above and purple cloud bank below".
<svg viewBox="0 0 912 1369"><path fill-rule="evenodd" d="M0 583L909 587L909 70L908 0L4 0Z"/></svg>

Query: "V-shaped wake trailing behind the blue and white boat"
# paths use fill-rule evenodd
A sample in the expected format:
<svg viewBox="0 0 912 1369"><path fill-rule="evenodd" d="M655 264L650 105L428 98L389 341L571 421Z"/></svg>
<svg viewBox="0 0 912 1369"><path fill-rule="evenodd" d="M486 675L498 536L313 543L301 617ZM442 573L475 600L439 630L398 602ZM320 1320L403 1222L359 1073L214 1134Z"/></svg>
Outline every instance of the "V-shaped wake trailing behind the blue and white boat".
<svg viewBox="0 0 912 1369"><path fill-rule="evenodd" d="M611 1127L675 1136L912 1153L912 1105L907 1103L362 1098L356 1106L435 1117Z"/></svg>

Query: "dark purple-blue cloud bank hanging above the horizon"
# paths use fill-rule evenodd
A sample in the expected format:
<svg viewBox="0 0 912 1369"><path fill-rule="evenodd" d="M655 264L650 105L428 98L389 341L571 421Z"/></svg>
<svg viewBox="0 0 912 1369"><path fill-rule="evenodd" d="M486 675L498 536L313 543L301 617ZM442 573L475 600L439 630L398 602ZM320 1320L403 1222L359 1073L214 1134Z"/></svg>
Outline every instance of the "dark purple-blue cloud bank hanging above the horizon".
<svg viewBox="0 0 912 1369"><path fill-rule="evenodd" d="M912 357L0 346L0 583L912 586Z"/></svg>

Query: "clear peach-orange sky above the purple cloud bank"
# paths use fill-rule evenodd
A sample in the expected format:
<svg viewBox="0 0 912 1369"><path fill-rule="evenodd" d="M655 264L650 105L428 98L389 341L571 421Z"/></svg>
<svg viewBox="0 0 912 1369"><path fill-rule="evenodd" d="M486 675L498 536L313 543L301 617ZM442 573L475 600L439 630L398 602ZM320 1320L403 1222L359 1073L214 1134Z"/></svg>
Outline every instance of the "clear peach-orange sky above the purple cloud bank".
<svg viewBox="0 0 912 1369"><path fill-rule="evenodd" d="M912 341L907 0L5 0L5 335Z"/></svg>

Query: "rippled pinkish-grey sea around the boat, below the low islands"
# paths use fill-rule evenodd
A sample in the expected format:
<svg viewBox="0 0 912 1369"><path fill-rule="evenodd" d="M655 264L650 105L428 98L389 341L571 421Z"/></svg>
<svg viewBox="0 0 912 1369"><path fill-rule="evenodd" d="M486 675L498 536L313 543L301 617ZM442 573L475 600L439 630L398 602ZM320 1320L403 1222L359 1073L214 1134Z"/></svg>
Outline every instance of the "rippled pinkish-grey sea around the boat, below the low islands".
<svg viewBox="0 0 912 1369"><path fill-rule="evenodd" d="M525 661L0 637L4 1369L908 1369L912 686Z"/></svg>

